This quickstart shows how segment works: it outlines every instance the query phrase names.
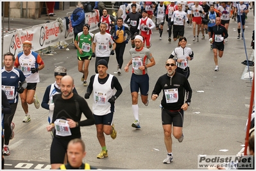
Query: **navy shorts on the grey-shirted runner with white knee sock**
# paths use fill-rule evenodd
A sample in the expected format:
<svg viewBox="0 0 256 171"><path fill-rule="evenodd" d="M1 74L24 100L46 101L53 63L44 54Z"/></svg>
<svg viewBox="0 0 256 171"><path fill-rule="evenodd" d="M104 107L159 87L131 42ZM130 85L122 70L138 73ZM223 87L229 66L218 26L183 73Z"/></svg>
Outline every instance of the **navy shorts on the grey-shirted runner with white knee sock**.
<svg viewBox="0 0 256 171"><path fill-rule="evenodd" d="M132 92L139 92L141 90L141 95L148 95L149 90L149 77L148 74L136 75L132 74L130 89Z"/></svg>

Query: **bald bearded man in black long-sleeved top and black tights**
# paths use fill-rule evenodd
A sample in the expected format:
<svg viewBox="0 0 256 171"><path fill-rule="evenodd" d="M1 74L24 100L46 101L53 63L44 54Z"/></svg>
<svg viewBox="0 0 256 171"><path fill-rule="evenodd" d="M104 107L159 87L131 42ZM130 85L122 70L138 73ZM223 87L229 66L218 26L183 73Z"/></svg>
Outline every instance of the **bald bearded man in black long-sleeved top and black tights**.
<svg viewBox="0 0 256 171"><path fill-rule="evenodd" d="M53 119L51 124L46 127L47 131L51 131L55 127L54 138L51 143L51 169L59 168L64 163L69 141L74 138L81 138L80 126L94 124L94 117L87 102L80 95L74 94L73 89L73 77L64 76L60 83L62 93L53 96L55 104ZM81 120L81 113L87 119Z"/></svg>

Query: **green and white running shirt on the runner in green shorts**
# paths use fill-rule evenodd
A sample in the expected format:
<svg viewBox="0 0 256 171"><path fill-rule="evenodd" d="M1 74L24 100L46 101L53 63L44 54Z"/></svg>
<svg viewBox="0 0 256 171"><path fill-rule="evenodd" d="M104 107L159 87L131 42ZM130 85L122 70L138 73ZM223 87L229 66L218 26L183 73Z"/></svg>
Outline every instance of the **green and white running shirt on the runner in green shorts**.
<svg viewBox="0 0 256 171"><path fill-rule="evenodd" d="M92 33L88 33L87 35L83 34L83 31L78 33L76 36L76 41L78 42L78 46L83 51L83 54L80 54L77 50L77 54L80 57L92 56L92 42L94 35Z"/></svg>

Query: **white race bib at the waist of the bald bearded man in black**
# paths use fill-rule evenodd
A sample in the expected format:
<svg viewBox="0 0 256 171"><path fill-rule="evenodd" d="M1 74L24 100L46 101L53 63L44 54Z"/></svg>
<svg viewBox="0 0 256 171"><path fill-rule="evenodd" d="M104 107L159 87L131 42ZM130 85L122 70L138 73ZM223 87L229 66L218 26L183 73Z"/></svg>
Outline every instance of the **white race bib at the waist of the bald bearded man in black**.
<svg viewBox="0 0 256 171"><path fill-rule="evenodd" d="M55 130L58 136L71 136L71 131L67 120L56 119L55 120Z"/></svg>

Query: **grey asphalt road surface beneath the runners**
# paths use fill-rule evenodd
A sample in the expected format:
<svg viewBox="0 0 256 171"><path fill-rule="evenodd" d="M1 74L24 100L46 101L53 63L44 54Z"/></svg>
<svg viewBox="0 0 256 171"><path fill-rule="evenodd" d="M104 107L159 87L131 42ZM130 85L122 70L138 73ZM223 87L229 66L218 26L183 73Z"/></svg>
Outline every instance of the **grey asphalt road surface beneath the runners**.
<svg viewBox="0 0 256 171"><path fill-rule="evenodd" d="M251 11L250 11L251 12ZM214 72L213 53L210 51L209 38L192 42L192 28L185 26L187 46L194 51L194 60L189 61L191 76L189 82L193 90L189 109L184 114L184 140L179 143L173 138L173 163L164 165L166 147L160 116L160 99L151 101L144 106L139 99L139 117L141 129L131 127L134 121L132 114L132 99L130 95L130 72L122 72L121 76L114 74L117 68L115 56L110 57L108 73L114 74L123 86L123 94L115 103L114 123L117 138L112 140L106 136L108 158L97 159L101 147L96 137L96 127L82 127L82 139L86 143L87 156L85 161L98 168L108 169L198 169L198 155L235 155L244 143L244 126L248 117L251 83L242 79L247 71L241 64L248 59L254 59L254 51L250 47L252 31L255 27L252 12L248 13L245 41L237 40L237 23L230 21L228 42L225 44L223 58L219 58L219 72ZM149 95L159 76L166 73L165 61L175 49L178 42L168 42L167 25L164 26L162 40L158 40L158 31L152 35L152 47L156 65L149 68ZM246 48L244 48L244 42ZM67 68L69 75L74 77L78 94L82 97L87 88L82 85L78 72L76 50L73 45L65 49L55 49L53 55L43 54L45 68L40 70L40 83L37 85L37 96L40 102L46 87L55 81L53 70L56 66ZM124 66L130 60L130 43L126 45ZM90 61L89 77L94 73L95 58ZM253 71L253 67L250 67ZM199 92L198 92L199 91ZM203 91L203 92L202 92ZM162 96L162 94L160 94ZM92 97L87 100L92 106ZM49 169L49 149L51 135L46 131L48 111L29 106L31 121L22 123L24 111L19 102L13 122L15 136L10 141L10 156L5 156L6 169ZM221 149L228 151L222 152Z"/></svg>

